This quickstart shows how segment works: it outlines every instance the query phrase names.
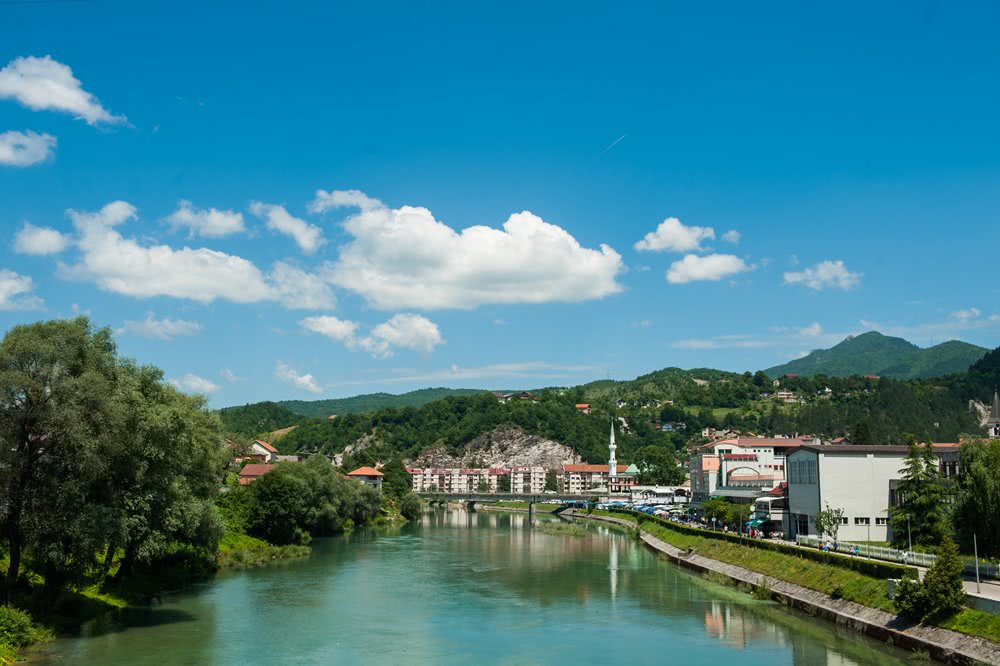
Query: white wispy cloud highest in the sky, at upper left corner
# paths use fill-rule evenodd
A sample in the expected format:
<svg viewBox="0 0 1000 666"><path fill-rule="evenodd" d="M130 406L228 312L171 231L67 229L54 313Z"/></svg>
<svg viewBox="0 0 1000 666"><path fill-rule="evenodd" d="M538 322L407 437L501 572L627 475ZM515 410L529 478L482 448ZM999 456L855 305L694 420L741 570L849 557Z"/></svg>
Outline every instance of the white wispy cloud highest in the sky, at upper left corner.
<svg viewBox="0 0 1000 666"><path fill-rule="evenodd" d="M35 111L62 111L97 123L124 123L83 89L73 70L51 56L15 58L0 69L0 99L14 99Z"/></svg>

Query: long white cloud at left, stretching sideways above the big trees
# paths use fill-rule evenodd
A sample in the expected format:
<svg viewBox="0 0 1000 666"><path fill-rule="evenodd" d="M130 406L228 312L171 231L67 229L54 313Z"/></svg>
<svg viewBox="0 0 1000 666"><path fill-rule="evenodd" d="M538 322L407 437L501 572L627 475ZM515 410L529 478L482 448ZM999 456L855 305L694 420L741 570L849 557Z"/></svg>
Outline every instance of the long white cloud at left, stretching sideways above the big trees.
<svg viewBox="0 0 1000 666"><path fill-rule="evenodd" d="M114 201L96 212L68 211L81 251L76 264L61 265L67 279L94 282L106 291L135 297L171 296L199 303L278 301L287 308L328 309L330 286L319 276L278 262L265 275L252 262L208 248L144 246L115 229L135 219L136 208Z"/></svg>

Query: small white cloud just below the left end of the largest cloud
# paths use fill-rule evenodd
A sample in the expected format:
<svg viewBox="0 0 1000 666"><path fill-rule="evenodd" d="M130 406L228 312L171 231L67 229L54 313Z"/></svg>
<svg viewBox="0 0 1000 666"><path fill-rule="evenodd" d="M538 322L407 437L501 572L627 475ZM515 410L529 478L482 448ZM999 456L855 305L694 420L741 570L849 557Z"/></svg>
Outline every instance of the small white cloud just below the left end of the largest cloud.
<svg viewBox="0 0 1000 666"><path fill-rule="evenodd" d="M397 348L429 354L444 343L437 324L416 314L394 315L389 321L375 326L368 335L359 335L361 324L337 317L306 317L299 325L340 342L348 349L366 351L375 358L389 358Z"/></svg>

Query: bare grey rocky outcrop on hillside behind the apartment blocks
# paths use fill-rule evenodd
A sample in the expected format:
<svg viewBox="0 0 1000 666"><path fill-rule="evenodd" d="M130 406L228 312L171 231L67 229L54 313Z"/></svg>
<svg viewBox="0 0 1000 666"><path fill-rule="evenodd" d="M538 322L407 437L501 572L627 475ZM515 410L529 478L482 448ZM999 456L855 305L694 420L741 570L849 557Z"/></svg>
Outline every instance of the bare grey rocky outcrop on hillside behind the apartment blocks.
<svg viewBox="0 0 1000 666"><path fill-rule="evenodd" d="M412 467L503 468L527 465L558 469L580 461L579 454L565 444L529 435L519 428L500 427L469 442L461 455L436 447L427 449L408 464Z"/></svg>

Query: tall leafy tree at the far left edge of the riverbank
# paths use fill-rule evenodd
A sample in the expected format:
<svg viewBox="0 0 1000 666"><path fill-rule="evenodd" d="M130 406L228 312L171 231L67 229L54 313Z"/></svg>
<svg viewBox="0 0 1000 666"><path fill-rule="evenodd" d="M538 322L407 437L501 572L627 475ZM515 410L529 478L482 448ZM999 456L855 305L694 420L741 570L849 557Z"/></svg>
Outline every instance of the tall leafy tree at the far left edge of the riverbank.
<svg viewBox="0 0 1000 666"><path fill-rule="evenodd" d="M73 559L82 570L94 559L101 522L88 491L104 467L98 446L114 376L111 331L85 317L15 326L0 343L3 603L26 551L53 568Z"/></svg>

